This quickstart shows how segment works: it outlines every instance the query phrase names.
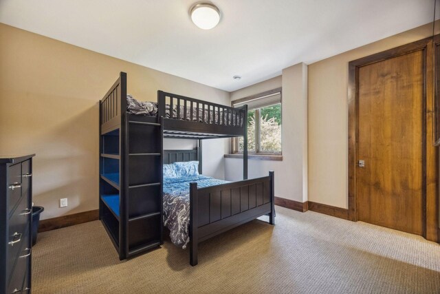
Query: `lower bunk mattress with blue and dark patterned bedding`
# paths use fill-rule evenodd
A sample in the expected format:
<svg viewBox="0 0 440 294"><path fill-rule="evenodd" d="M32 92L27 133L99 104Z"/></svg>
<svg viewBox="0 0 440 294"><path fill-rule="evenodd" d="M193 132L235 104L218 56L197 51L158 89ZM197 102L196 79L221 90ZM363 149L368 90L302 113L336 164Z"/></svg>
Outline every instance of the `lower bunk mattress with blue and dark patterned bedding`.
<svg viewBox="0 0 440 294"><path fill-rule="evenodd" d="M164 178L164 226L170 230L171 241L183 249L190 241L190 182L197 182L199 188L227 183L201 175Z"/></svg>

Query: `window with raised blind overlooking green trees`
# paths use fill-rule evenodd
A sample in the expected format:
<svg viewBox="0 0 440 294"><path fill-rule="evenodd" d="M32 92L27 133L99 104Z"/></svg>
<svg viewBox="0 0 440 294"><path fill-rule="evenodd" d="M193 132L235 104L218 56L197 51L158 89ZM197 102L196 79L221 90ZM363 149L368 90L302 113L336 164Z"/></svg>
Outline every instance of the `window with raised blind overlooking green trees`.
<svg viewBox="0 0 440 294"><path fill-rule="evenodd" d="M248 105L249 154L281 155L281 88L233 101L233 107ZM232 140L232 153L243 153L243 137Z"/></svg>

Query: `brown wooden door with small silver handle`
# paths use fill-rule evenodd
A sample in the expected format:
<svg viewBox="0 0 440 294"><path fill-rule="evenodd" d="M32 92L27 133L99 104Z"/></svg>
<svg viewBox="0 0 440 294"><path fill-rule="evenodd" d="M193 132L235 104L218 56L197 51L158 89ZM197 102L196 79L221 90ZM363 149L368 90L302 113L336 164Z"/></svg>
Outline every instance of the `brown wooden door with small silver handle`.
<svg viewBox="0 0 440 294"><path fill-rule="evenodd" d="M358 220L417 235L425 229L424 83L423 50L358 70Z"/></svg>

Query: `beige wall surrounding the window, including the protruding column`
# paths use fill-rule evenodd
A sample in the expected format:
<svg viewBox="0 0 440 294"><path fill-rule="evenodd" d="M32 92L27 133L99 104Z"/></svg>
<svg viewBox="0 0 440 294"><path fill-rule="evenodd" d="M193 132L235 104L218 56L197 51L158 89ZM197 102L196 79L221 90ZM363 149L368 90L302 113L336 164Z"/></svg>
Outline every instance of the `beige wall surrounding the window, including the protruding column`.
<svg viewBox="0 0 440 294"><path fill-rule="evenodd" d="M283 160L249 160L249 177L275 171L275 195L307 201L307 65L298 63L283 69L281 76L231 93L232 100L283 87ZM226 158L226 180L240 180L242 160Z"/></svg>

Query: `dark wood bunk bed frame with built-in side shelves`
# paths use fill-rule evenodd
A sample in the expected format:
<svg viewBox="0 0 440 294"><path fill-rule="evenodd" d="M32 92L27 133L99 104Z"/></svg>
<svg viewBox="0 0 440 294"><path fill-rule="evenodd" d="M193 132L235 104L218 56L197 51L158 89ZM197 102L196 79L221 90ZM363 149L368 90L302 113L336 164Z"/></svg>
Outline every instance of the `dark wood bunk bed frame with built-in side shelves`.
<svg viewBox="0 0 440 294"><path fill-rule="evenodd" d="M163 244L163 164L196 158L201 174L205 139L243 136L244 180L206 188L190 183L190 264L197 264L199 242L264 215L274 224L273 171L248 180L247 106L232 108L158 91L158 115L135 115L126 112L126 87L126 73L121 72L100 101L99 215L120 260ZM171 111L166 118L167 104L177 106L177 116ZM179 119L181 106L190 120ZM211 117L216 112L221 115ZM199 147L164 151L164 138L199 140Z"/></svg>

